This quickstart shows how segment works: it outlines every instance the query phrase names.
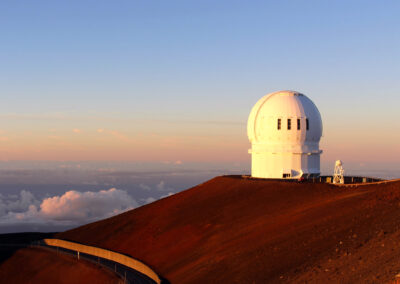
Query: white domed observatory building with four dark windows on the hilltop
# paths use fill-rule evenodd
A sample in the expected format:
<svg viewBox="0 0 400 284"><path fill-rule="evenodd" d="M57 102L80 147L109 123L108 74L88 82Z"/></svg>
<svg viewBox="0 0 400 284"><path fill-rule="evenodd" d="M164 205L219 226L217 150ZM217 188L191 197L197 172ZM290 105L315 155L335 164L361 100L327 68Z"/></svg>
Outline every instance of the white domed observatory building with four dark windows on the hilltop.
<svg viewBox="0 0 400 284"><path fill-rule="evenodd" d="M319 176L322 120L305 95L279 91L262 97L250 112L247 135L252 177Z"/></svg>

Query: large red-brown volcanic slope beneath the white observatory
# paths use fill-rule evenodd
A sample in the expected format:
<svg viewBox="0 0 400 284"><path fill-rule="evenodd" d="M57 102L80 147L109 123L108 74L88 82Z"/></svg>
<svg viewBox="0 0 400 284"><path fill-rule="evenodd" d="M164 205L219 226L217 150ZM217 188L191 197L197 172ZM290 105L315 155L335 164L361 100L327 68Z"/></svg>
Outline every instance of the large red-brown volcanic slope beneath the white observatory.
<svg viewBox="0 0 400 284"><path fill-rule="evenodd" d="M171 283L382 283L400 272L400 182L217 177L56 237L129 254Z"/></svg>

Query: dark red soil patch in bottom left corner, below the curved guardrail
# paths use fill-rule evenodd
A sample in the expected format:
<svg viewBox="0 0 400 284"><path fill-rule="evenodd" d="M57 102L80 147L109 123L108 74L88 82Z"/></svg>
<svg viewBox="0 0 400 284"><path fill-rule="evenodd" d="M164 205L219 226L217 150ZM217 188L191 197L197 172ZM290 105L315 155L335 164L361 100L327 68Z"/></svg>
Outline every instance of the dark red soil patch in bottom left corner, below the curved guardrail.
<svg viewBox="0 0 400 284"><path fill-rule="evenodd" d="M18 250L0 267L1 283L118 283L111 272L90 262L38 248Z"/></svg>

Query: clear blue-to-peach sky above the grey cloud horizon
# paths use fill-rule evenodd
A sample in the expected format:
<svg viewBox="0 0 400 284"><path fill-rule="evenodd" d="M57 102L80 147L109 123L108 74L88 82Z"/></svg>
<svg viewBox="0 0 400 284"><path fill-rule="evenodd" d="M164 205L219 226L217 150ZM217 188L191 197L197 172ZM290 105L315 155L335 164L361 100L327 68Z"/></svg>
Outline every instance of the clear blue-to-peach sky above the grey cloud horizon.
<svg viewBox="0 0 400 284"><path fill-rule="evenodd" d="M385 148L370 160L394 162L400 158L399 151L393 155L400 138L399 6L2 1L0 154L108 160L125 138L140 143L121 149L151 153L160 148L157 137L171 144L161 160L249 160L245 125L252 105L266 93L293 89L320 109L323 161L359 160ZM121 141L99 142L99 129ZM233 145L219 156L210 151L215 141L218 150ZM90 145L97 152L84 154ZM202 158L190 154L198 149ZM140 153L126 158L146 160Z"/></svg>

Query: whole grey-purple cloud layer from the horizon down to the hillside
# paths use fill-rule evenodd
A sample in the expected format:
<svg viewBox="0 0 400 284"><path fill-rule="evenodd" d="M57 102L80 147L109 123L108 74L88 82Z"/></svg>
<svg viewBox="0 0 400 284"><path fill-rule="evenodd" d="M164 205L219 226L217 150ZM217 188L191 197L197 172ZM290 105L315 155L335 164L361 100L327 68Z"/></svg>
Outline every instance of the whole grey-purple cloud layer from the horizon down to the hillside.
<svg viewBox="0 0 400 284"><path fill-rule="evenodd" d="M323 174L332 170L329 163ZM0 234L64 231L168 197L248 164L0 162ZM388 170L388 168L390 170ZM349 175L397 178L400 166L346 164Z"/></svg>

